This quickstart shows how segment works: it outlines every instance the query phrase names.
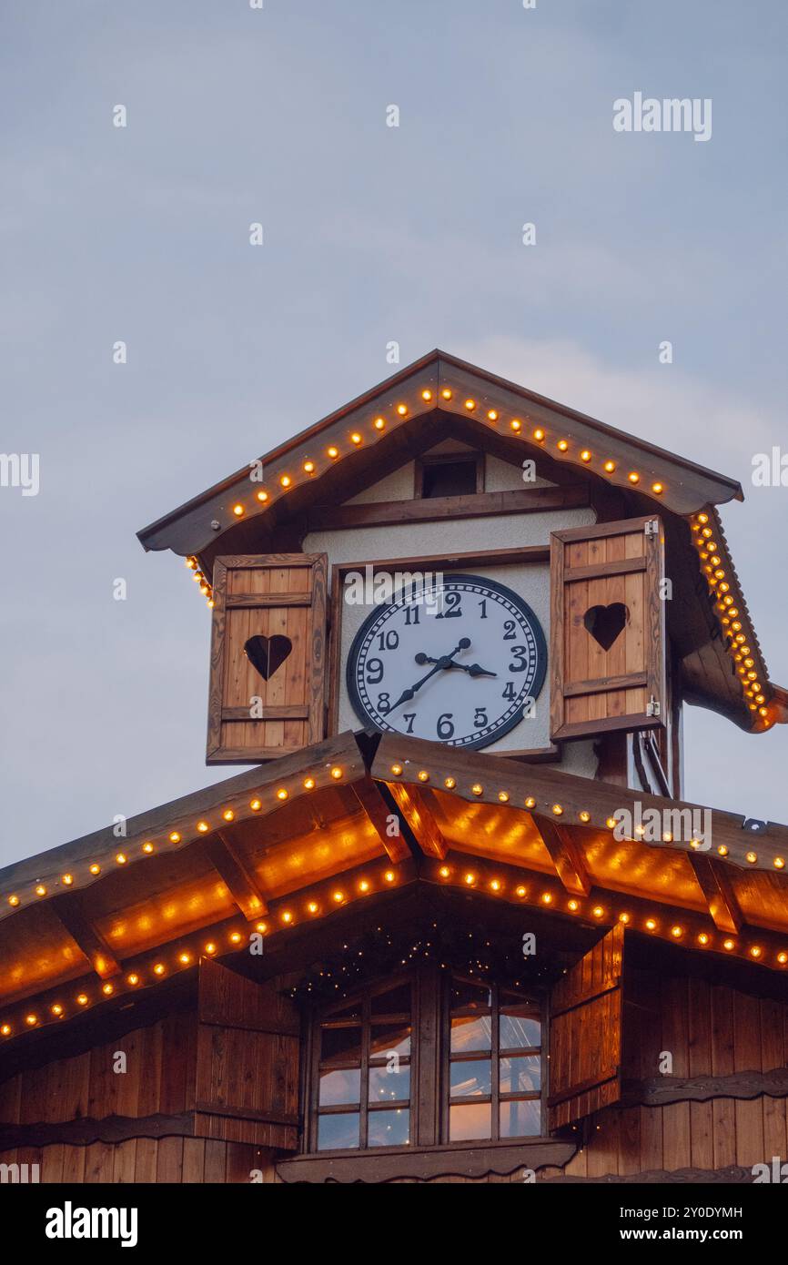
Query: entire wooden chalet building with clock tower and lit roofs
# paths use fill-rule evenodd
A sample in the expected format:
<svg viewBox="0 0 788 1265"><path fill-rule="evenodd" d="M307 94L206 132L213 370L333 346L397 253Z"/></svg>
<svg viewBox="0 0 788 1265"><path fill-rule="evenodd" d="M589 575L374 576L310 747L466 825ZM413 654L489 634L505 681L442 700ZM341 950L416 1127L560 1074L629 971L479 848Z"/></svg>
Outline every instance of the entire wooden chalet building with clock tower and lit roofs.
<svg viewBox="0 0 788 1265"><path fill-rule="evenodd" d="M435 352L142 531L211 607L207 763L249 768L0 870L0 1164L788 1159L788 826L684 799L684 702L788 720L732 498Z"/></svg>

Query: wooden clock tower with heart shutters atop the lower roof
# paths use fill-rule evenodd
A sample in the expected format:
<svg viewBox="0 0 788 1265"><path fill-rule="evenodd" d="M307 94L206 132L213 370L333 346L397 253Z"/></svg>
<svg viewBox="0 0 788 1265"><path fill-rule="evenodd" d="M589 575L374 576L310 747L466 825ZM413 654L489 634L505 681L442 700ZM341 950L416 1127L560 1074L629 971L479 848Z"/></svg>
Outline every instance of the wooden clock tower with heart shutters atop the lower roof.
<svg viewBox="0 0 788 1265"><path fill-rule="evenodd" d="M434 352L140 539L211 608L209 764L366 731L679 796L684 701L777 719L734 497Z"/></svg>

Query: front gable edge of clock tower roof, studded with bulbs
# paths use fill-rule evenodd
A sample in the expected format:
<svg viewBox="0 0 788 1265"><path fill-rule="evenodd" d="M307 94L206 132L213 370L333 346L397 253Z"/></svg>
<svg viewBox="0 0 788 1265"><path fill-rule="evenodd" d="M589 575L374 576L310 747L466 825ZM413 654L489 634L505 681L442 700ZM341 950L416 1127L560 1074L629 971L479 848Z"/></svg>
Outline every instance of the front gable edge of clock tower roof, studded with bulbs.
<svg viewBox="0 0 788 1265"><path fill-rule="evenodd" d="M444 390L450 391L445 398ZM424 396L425 391L429 396ZM496 421L500 419L506 421L507 426L511 424L511 419L502 416L505 412L522 412L530 409L530 415L525 412L527 424L525 419L514 419L517 421L516 431L507 429L505 434L510 440L524 443L529 449L545 452L548 449L540 448L540 441L534 440L533 426L536 425L539 429L543 424L551 423L551 429L555 429L557 423L565 420L569 429L577 430L577 441L560 452L554 452L550 447L549 452L554 459L583 471L586 476L589 472L596 473L615 486L630 488L627 471L639 463L643 481L637 490L655 505L664 505L674 512L686 515L697 511L705 503L744 500L741 484L729 476L710 471L568 405L549 400L527 387L435 349L278 444L255 462L242 467L157 519L156 522L143 528L138 538L147 550L172 549L182 557L188 557L212 546L218 536L240 525L239 519L245 522L252 517L274 521L276 517L272 517L274 510L281 514L285 502L301 503L295 496L299 487L309 486L314 501L316 487L330 471L336 471L336 467L348 459L358 464L364 449L390 441L395 433L415 426L425 415L435 414L449 419L469 416L464 407L465 393L469 391L478 396L477 420L498 438L501 428L496 431ZM382 424L377 430L372 417L376 410L379 410L376 421ZM355 441L350 441L345 434L347 424L355 428L353 430ZM319 439L324 443L333 440L334 457L326 458L323 450L317 452ZM586 450L587 443L594 440L597 447L601 440L605 441L606 455L610 455L607 445L612 445L613 455L620 458L615 471L606 471L601 462L597 463L600 468L596 468L581 460L579 453ZM637 454L640 454L639 462ZM302 478L305 462L311 467L306 481ZM617 468L619 464L621 468ZM249 478L252 466L259 466L269 474L262 502L258 498L258 493L263 491L261 483L253 483ZM288 479L283 487L280 486L282 477ZM653 495L653 486L659 487L660 492ZM225 552L243 550L235 550L228 543Z"/></svg>

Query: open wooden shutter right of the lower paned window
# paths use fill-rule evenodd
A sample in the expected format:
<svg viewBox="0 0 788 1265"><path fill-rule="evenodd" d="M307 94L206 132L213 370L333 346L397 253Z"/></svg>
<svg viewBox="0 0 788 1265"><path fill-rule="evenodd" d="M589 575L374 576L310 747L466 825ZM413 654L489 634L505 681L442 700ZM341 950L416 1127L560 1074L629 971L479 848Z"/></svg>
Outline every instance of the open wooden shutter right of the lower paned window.
<svg viewBox="0 0 788 1265"><path fill-rule="evenodd" d="M621 1097L624 927L617 923L550 997L550 1130Z"/></svg>

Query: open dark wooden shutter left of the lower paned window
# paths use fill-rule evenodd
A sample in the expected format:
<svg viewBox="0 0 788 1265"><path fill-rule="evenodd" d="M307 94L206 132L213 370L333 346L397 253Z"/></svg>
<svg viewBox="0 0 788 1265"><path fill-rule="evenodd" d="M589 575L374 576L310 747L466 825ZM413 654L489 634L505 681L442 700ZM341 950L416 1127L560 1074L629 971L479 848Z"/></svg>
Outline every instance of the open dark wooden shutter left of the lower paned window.
<svg viewBox="0 0 788 1265"><path fill-rule="evenodd" d="M271 983L200 961L195 1133L296 1150L299 1015Z"/></svg>

